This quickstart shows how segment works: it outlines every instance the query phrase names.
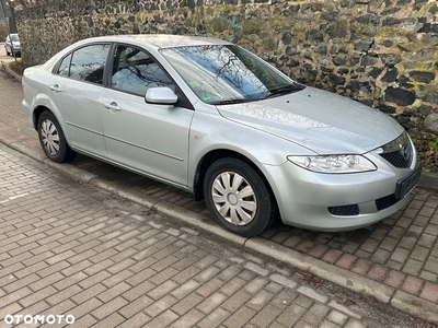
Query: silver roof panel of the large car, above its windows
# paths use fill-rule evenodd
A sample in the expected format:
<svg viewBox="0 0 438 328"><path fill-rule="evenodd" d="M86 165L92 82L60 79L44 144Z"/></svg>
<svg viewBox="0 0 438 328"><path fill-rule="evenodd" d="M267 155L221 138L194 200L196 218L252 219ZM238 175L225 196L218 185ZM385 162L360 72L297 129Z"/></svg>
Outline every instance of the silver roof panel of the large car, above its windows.
<svg viewBox="0 0 438 328"><path fill-rule="evenodd" d="M97 36L84 39L83 42L131 42L136 44L148 44L158 49L184 47L184 46L207 46L207 45L230 45L231 43L205 36L171 35L171 34L131 34Z"/></svg>

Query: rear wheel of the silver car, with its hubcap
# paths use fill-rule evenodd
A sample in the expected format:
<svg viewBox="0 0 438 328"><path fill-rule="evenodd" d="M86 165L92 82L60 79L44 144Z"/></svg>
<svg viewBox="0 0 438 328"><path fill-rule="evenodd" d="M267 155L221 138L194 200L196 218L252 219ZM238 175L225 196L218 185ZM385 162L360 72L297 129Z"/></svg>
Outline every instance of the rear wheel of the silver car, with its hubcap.
<svg viewBox="0 0 438 328"><path fill-rule="evenodd" d="M39 143L47 157L57 163L65 163L74 159L76 152L68 145L61 127L51 112L42 113L36 128Z"/></svg>

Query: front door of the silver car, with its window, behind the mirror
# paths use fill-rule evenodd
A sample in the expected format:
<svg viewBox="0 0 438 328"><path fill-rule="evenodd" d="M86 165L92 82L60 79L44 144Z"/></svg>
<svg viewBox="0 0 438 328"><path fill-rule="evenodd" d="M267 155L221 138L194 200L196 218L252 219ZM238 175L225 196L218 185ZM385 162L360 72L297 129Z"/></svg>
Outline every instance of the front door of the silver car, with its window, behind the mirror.
<svg viewBox="0 0 438 328"><path fill-rule="evenodd" d="M111 87L102 117L108 157L174 185L187 185L188 131L193 109L145 102L149 87L176 86L145 50L115 48Z"/></svg>

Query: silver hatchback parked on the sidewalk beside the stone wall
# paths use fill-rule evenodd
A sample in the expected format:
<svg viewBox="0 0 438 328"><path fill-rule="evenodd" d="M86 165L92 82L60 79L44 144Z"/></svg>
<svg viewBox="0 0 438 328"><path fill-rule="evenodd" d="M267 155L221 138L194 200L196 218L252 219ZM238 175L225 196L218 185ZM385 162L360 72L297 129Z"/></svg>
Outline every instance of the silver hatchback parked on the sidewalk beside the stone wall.
<svg viewBox="0 0 438 328"><path fill-rule="evenodd" d="M23 92L50 160L80 152L192 191L242 236L279 218L320 231L369 225L405 206L420 176L393 118L220 39L84 39L26 69Z"/></svg>

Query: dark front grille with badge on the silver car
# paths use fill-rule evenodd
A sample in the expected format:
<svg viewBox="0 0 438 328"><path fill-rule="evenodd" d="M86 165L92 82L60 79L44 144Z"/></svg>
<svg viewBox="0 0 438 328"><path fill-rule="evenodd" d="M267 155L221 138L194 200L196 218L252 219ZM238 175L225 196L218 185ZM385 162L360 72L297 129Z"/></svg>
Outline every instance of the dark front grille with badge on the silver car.
<svg viewBox="0 0 438 328"><path fill-rule="evenodd" d="M408 168L413 159L413 147L406 131L395 140L381 147L380 155L399 168Z"/></svg>

